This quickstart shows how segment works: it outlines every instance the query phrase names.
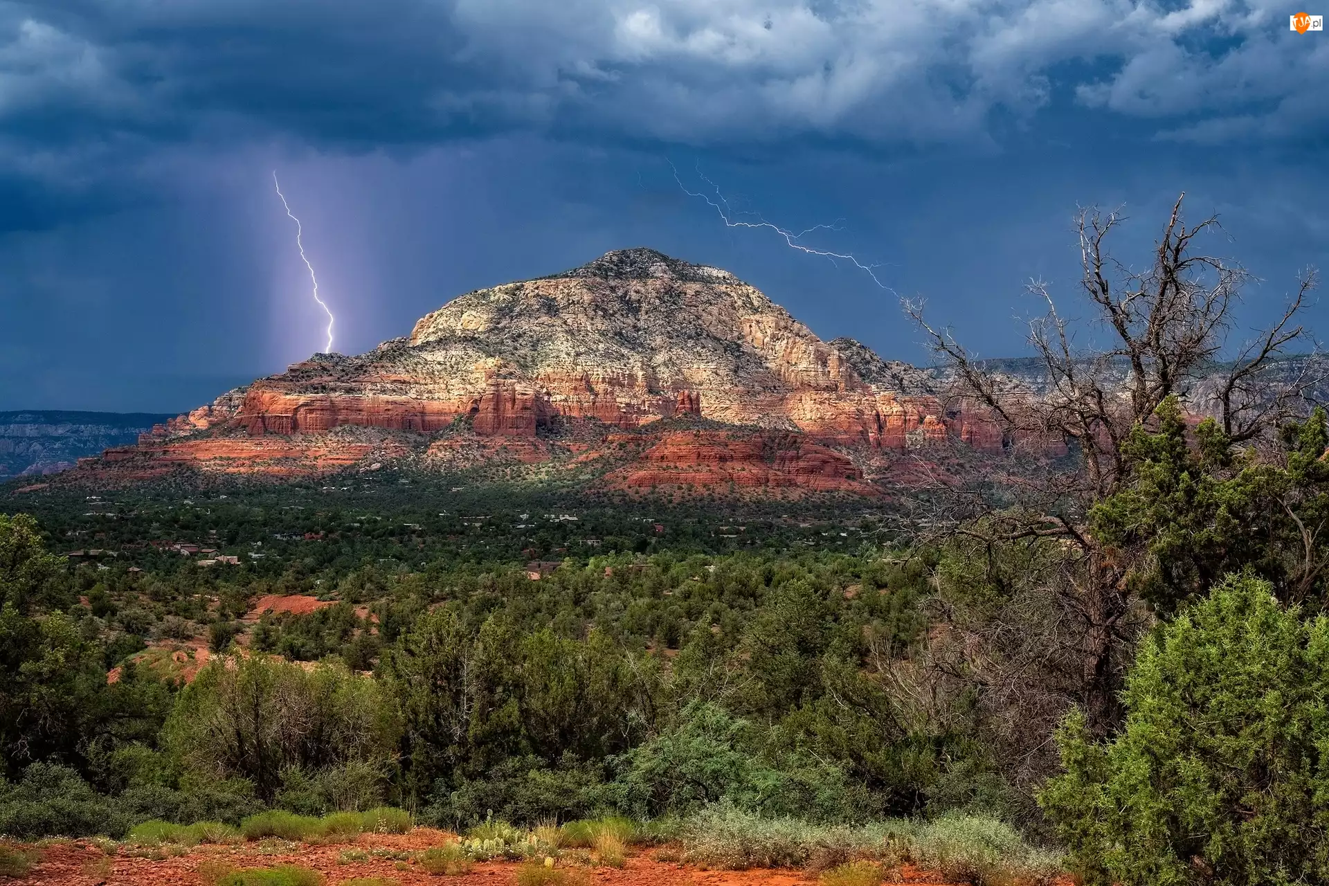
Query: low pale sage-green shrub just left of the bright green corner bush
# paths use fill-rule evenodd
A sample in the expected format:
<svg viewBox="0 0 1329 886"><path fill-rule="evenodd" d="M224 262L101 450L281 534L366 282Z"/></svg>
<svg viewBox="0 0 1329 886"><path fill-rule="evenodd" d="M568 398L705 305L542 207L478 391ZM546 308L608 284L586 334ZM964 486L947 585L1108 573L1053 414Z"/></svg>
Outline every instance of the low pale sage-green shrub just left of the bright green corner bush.
<svg viewBox="0 0 1329 886"><path fill-rule="evenodd" d="M1030 846L1005 822L974 816L945 816L920 825L909 854L948 881L974 886L1051 883L1061 873L1057 854Z"/></svg>

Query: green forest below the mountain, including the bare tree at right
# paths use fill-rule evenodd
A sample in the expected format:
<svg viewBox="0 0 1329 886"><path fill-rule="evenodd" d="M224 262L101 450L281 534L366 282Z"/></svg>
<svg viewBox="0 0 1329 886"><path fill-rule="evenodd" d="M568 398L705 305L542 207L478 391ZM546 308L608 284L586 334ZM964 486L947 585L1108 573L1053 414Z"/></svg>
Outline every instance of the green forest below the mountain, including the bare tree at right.
<svg viewBox="0 0 1329 886"><path fill-rule="evenodd" d="M1086 217L1091 284L1108 230ZM1091 886L1329 881L1329 428L1276 391L1302 296L1224 364L1212 417L1187 409L1233 292L1187 264L1200 230L1174 219L1151 272L1090 292L1124 393L1054 320L1034 340L1059 381L1022 412L937 333L968 396L1070 454L998 497L930 493L912 531L837 499L658 502L635 526L601 502L575 531L537 514L538 538L509 529L520 497L484 530L400 490L292 514L272 502L318 491L238 486L170 525L173 493L117 521L9 507L0 834L384 804L455 829L977 814ZM60 557L81 531L264 554ZM327 606L259 618L270 594ZM210 647L190 680L152 655L173 640Z"/></svg>

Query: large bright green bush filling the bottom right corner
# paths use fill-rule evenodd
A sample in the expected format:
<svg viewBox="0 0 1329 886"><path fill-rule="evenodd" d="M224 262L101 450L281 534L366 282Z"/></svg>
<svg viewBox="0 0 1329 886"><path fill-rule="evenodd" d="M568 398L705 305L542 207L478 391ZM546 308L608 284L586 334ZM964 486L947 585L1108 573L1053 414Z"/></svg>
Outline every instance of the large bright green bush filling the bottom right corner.
<svg viewBox="0 0 1329 886"><path fill-rule="evenodd" d="M1123 703L1106 743L1066 720L1039 797L1086 883L1329 879L1329 619L1229 578L1144 643Z"/></svg>

